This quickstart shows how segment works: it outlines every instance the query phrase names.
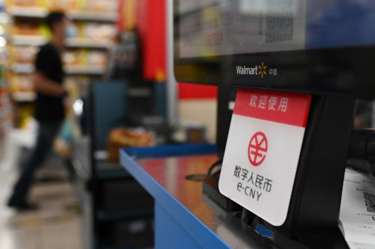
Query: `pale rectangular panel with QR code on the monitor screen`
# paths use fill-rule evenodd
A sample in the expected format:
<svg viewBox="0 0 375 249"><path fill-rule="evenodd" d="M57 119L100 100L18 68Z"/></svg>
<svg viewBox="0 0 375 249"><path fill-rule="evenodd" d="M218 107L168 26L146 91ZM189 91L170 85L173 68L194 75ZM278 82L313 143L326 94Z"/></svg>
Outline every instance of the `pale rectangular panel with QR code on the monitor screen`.
<svg viewBox="0 0 375 249"><path fill-rule="evenodd" d="M293 3L288 0L267 0L266 43L293 39Z"/></svg>

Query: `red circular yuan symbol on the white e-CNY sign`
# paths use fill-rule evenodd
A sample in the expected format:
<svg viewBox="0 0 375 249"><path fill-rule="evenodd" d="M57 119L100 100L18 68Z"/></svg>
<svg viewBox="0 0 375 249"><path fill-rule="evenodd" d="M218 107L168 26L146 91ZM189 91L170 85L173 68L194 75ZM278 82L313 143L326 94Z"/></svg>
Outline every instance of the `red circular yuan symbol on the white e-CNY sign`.
<svg viewBox="0 0 375 249"><path fill-rule="evenodd" d="M259 166L266 158L268 150L267 137L263 132L257 132L248 143L248 160L253 166Z"/></svg>

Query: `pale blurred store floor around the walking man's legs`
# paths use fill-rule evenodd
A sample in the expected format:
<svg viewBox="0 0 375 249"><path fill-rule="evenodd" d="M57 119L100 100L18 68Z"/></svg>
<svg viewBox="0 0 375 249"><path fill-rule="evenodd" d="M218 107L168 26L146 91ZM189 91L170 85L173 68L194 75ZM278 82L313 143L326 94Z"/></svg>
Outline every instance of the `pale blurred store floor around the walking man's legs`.
<svg viewBox="0 0 375 249"><path fill-rule="evenodd" d="M55 174L56 171L59 170L54 169ZM81 218L69 181L63 178L37 182L30 200L39 208L17 212L6 205L16 177L17 170L0 168L0 248L82 248Z"/></svg>

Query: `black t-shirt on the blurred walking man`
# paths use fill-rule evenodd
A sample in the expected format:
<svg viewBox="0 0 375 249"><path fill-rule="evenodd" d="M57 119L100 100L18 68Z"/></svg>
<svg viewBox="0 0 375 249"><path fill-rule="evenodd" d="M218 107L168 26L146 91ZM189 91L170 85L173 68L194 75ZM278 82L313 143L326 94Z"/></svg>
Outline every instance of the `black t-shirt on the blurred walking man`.
<svg viewBox="0 0 375 249"><path fill-rule="evenodd" d="M37 54L35 68L48 79L62 84L64 71L59 51L50 43ZM58 121L64 118L63 97L52 97L37 92L35 118L39 121Z"/></svg>

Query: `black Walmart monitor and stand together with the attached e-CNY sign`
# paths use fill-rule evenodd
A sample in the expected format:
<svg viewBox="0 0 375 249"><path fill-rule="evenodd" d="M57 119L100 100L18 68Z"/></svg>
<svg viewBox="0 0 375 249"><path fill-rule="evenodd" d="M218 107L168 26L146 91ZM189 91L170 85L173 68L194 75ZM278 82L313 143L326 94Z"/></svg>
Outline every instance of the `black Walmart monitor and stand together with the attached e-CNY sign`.
<svg viewBox="0 0 375 249"><path fill-rule="evenodd" d="M220 193L281 247L348 248L339 211L356 98L375 96L373 4L191 2L174 2L177 80L238 88Z"/></svg>

